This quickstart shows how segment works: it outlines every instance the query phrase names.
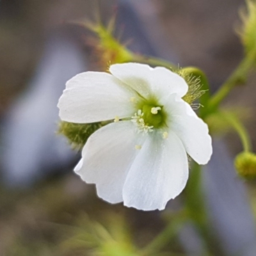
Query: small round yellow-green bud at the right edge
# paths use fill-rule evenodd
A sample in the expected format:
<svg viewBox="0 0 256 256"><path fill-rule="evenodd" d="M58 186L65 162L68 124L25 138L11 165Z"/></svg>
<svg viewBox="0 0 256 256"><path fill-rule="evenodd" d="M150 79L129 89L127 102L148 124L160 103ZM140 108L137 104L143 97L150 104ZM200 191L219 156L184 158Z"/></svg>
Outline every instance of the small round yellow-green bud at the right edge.
<svg viewBox="0 0 256 256"><path fill-rule="evenodd" d="M238 154L234 164L239 176L245 179L256 178L256 155L252 152Z"/></svg>

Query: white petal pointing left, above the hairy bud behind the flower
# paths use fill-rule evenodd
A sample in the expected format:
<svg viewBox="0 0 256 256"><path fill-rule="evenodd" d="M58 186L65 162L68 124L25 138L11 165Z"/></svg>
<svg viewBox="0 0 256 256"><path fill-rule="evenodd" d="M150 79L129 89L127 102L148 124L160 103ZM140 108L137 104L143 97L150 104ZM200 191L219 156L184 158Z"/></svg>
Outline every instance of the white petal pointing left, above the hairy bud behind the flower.
<svg viewBox="0 0 256 256"><path fill-rule="evenodd" d="M63 121L92 123L134 114L130 99L136 93L114 76L84 72L67 82L58 108Z"/></svg>

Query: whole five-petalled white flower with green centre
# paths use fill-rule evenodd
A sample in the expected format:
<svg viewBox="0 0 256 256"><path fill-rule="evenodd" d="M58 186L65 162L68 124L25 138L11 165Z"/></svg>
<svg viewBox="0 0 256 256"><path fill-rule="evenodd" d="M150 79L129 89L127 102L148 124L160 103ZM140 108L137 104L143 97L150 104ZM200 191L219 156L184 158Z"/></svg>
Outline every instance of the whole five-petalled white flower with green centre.
<svg viewBox="0 0 256 256"><path fill-rule="evenodd" d="M208 127L182 100L188 84L167 68L125 63L109 72L73 77L58 103L67 122L115 121L90 136L75 172L112 204L162 210L186 185L187 154L209 161Z"/></svg>

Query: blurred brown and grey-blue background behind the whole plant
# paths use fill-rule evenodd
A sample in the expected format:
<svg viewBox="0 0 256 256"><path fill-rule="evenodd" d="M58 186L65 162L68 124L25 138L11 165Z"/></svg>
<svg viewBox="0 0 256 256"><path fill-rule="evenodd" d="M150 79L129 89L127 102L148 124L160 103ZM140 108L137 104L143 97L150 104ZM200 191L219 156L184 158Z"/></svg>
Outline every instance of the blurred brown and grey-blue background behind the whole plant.
<svg viewBox="0 0 256 256"><path fill-rule="evenodd" d="M182 205L182 196L163 213L109 205L73 173L80 153L56 134L56 104L68 79L100 68L88 40L92 33L73 21L95 20L100 13L108 22L116 15L116 33L129 49L202 68L214 92L243 58L235 33L243 6L243 0L0 1L0 255L128 255L92 254L88 244L79 244L78 251L67 239L79 234L77 227L115 220L113 227L144 246ZM255 79L224 104L253 113ZM256 149L253 115L246 127ZM228 134L216 136L214 148L204 189L218 237L213 246L220 247L216 255L255 256L255 184L239 180L232 164L241 144ZM188 223L168 243L166 255L202 255L202 246Z"/></svg>

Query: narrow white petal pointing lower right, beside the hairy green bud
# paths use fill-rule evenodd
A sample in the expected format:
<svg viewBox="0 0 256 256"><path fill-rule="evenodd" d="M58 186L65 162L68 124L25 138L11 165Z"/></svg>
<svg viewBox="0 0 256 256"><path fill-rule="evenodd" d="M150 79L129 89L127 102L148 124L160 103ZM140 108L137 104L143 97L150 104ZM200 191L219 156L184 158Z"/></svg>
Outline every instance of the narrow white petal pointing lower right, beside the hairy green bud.
<svg viewBox="0 0 256 256"><path fill-rule="evenodd" d="M212 155L212 140L207 124L198 118L187 102L172 95L166 111L170 113L168 126L179 136L189 156L198 164L206 164Z"/></svg>

